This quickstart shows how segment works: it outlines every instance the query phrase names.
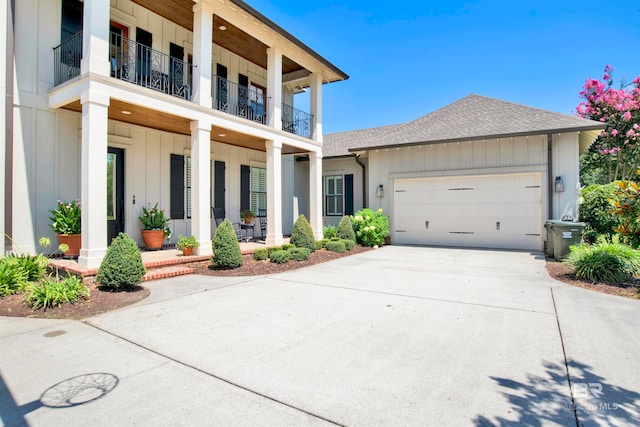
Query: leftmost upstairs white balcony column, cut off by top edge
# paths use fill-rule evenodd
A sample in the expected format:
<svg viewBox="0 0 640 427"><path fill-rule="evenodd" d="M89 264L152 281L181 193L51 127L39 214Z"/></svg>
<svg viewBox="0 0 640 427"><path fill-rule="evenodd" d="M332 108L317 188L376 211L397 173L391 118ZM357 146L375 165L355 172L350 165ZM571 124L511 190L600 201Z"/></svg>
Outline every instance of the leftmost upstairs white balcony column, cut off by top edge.
<svg viewBox="0 0 640 427"><path fill-rule="evenodd" d="M84 2L82 16L82 74L108 76L109 65L109 0Z"/></svg>

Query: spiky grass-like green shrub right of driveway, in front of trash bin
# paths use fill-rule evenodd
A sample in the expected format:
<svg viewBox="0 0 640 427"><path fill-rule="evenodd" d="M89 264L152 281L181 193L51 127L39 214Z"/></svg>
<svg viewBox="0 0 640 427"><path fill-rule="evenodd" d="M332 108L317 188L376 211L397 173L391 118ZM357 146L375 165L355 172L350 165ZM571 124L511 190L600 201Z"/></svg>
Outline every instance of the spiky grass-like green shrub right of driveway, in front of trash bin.
<svg viewBox="0 0 640 427"><path fill-rule="evenodd" d="M563 261L581 280L620 283L640 273L640 251L618 242L570 247Z"/></svg>

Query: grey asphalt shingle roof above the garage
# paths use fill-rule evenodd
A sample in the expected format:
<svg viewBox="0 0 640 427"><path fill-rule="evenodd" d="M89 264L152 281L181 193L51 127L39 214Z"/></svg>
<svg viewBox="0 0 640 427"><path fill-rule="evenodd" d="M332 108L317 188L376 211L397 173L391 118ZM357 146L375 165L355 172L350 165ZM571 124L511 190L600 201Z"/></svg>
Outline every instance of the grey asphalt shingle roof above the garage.
<svg viewBox="0 0 640 427"><path fill-rule="evenodd" d="M412 122L325 136L324 156L334 152L380 147L465 141L544 133L593 131L605 125L593 120L522 104L469 95Z"/></svg>

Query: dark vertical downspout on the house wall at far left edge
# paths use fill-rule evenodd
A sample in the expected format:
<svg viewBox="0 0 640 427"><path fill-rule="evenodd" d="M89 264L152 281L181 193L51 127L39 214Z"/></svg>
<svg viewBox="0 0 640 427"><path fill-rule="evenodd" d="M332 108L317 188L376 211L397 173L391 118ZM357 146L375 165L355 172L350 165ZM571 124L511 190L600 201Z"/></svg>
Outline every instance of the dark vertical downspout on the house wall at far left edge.
<svg viewBox="0 0 640 427"><path fill-rule="evenodd" d="M13 65L15 0L7 2L6 60L5 60L5 145L4 145L4 253L13 249L8 236L13 235Z"/></svg>

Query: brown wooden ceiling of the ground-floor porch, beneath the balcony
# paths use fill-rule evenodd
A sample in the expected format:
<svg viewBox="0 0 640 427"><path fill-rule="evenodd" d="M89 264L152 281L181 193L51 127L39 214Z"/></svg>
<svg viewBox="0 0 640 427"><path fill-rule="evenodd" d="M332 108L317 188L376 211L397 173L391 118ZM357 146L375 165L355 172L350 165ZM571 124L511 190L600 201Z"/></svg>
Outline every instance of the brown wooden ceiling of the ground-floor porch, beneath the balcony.
<svg viewBox="0 0 640 427"><path fill-rule="evenodd" d="M78 113L82 112L80 101L72 102L62 108L64 108L65 110L76 111ZM131 114L123 114L123 111L128 111ZM164 113L162 111L151 110L149 108L129 104L117 99L111 99L110 101L109 120L116 120L119 122L129 123L137 126L144 126L160 131L191 136L191 127L189 120L172 114ZM234 145L236 147L248 148L257 151L266 151L264 139L236 132L234 130L223 128L220 126L213 126L211 128L211 140ZM288 145L283 145L282 147L282 154L297 154L302 152L304 151Z"/></svg>

